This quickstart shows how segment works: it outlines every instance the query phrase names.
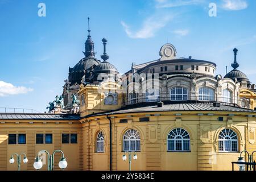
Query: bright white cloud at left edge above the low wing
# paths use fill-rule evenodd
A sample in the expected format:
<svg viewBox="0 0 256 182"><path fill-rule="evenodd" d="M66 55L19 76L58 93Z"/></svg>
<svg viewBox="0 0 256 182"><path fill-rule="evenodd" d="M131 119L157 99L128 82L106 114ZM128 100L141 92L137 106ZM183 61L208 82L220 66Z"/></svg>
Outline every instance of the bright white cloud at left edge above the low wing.
<svg viewBox="0 0 256 182"><path fill-rule="evenodd" d="M14 86L13 84L0 81L0 97L14 94L24 94L31 91L33 91L31 88L26 88L24 86Z"/></svg>

